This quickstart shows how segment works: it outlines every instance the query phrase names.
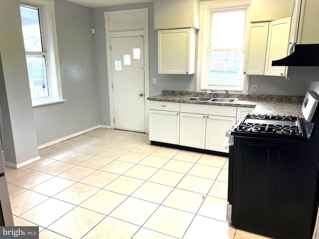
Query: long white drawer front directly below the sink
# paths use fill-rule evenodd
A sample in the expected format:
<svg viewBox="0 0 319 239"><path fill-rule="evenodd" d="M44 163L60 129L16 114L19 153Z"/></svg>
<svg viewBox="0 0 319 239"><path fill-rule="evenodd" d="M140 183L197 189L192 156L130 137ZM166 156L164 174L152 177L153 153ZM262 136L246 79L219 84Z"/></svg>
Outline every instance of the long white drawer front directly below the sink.
<svg viewBox="0 0 319 239"><path fill-rule="evenodd" d="M236 117L237 107L181 103L180 112L212 115L212 116Z"/></svg>

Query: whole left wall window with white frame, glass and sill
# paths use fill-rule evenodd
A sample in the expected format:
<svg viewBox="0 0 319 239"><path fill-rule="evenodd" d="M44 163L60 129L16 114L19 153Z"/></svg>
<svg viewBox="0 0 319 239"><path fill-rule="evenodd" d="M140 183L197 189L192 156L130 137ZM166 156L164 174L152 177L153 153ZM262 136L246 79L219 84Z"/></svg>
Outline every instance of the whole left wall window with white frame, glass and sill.
<svg viewBox="0 0 319 239"><path fill-rule="evenodd" d="M63 101L53 4L48 0L26 0L20 3L33 106Z"/></svg>

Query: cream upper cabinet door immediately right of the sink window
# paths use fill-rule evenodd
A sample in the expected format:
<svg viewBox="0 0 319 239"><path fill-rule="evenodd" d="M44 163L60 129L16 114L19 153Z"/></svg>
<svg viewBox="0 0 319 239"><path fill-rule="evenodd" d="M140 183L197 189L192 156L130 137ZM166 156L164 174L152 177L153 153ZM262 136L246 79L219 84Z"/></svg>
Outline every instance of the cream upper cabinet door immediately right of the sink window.
<svg viewBox="0 0 319 239"><path fill-rule="evenodd" d="M269 22L251 23L247 34L244 74L264 75Z"/></svg>

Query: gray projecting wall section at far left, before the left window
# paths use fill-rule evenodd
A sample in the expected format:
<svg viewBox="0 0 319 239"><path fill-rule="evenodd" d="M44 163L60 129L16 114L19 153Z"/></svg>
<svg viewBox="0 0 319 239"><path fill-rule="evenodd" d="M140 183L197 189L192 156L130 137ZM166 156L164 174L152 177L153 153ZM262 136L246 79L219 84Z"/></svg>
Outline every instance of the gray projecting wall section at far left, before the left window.
<svg viewBox="0 0 319 239"><path fill-rule="evenodd" d="M1 0L0 52L2 145L5 160L18 164L38 156L18 0Z"/></svg>

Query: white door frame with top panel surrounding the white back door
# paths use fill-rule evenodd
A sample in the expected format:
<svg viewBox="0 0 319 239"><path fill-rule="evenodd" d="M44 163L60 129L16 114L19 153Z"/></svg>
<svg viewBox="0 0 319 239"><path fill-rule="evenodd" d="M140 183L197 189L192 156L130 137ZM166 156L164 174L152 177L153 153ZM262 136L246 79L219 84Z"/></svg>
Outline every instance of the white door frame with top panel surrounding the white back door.
<svg viewBox="0 0 319 239"><path fill-rule="evenodd" d="M138 16L141 22L137 22L136 25L129 24L131 27L127 27L123 20L123 25L117 23L112 25L112 20L116 21L117 16L128 16L130 21L130 15ZM149 61L149 8L138 8L120 11L105 11L105 39L106 39L106 57L107 57L107 69L108 69L108 87L109 87L109 104L110 104L110 126L114 128L115 123L115 107L114 107L114 92L113 92L113 75L112 75L112 59L111 59L111 38L112 37L138 37L144 38L144 107L145 107L145 132L149 132L149 101L147 98L150 96L150 61ZM112 29L110 29L112 28Z"/></svg>

